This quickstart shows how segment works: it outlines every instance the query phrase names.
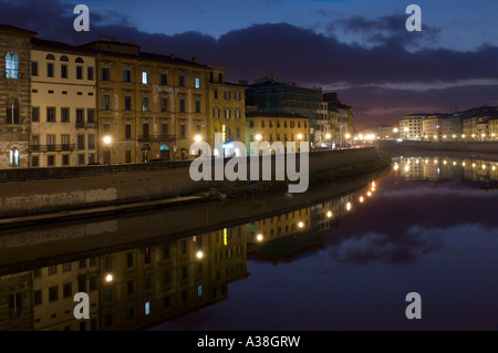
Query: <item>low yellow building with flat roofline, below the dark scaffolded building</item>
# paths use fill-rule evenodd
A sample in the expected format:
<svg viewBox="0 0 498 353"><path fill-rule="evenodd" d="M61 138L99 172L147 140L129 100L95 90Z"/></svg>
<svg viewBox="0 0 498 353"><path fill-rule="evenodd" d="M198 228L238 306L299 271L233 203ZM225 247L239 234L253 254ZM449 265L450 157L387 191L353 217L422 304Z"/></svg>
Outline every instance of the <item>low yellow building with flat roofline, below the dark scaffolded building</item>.
<svg viewBox="0 0 498 353"><path fill-rule="evenodd" d="M299 143L310 138L309 118L292 113L250 112L246 114L246 146L250 152L251 142L281 142L287 148L288 142L295 142L295 152ZM278 148L277 148L278 149ZM283 153L284 150L277 150Z"/></svg>

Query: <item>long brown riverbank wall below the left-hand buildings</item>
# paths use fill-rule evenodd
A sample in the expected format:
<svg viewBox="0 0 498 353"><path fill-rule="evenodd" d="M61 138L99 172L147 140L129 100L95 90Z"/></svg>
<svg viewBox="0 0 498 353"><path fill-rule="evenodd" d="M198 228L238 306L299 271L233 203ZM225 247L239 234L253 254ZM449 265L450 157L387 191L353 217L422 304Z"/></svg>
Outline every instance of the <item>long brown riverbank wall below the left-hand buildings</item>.
<svg viewBox="0 0 498 353"><path fill-rule="evenodd" d="M376 158L374 147L310 153L309 173L369 163ZM230 183L214 178L195 181L189 174L190 163L0 170L0 218L193 195ZM225 160L225 165L227 163L229 160ZM247 163L249 170L249 158ZM263 165L262 157L258 163ZM299 164L298 158L298 170ZM271 166L274 177L274 157Z"/></svg>

